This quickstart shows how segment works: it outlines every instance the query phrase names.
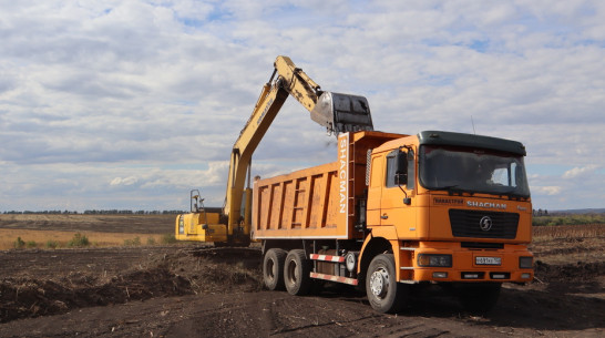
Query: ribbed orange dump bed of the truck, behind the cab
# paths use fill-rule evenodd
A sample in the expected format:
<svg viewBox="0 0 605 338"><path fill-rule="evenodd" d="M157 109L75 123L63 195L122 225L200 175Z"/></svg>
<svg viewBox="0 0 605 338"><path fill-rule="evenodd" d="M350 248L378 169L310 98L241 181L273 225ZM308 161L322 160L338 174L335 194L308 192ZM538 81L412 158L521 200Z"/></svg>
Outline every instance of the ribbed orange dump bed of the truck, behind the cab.
<svg viewBox="0 0 605 338"><path fill-rule="evenodd" d="M343 133L337 161L254 182L252 236L338 238L362 236L356 212L365 198L368 150L406 135L382 132Z"/></svg>

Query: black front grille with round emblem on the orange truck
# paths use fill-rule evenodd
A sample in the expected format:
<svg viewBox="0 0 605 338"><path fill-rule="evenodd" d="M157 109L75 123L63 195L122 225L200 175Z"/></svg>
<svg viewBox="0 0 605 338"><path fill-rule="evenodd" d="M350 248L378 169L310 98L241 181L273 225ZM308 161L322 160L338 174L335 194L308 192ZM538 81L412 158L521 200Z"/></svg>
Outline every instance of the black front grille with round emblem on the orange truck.
<svg viewBox="0 0 605 338"><path fill-rule="evenodd" d="M491 228L481 228L483 217L491 218ZM514 239L519 226L519 214L450 209L450 224L454 237Z"/></svg>

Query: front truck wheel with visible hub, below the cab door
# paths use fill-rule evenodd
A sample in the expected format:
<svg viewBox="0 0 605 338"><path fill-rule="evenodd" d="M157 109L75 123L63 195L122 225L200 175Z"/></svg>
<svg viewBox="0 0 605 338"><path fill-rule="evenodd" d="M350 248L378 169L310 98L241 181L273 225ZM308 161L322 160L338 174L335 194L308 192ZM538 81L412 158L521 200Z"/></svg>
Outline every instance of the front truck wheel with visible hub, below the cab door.
<svg viewBox="0 0 605 338"><path fill-rule="evenodd" d="M392 314L403 307L409 288L396 280L392 254L376 256L366 274L366 294L372 308L382 314Z"/></svg>

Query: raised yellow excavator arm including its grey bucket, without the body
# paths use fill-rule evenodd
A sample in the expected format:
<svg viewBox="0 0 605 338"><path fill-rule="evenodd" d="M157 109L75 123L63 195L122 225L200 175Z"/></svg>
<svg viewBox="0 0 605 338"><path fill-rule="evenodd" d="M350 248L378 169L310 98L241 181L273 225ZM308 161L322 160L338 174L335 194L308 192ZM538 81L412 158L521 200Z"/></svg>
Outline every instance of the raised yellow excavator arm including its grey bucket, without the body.
<svg viewBox="0 0 605 338"><path fill-rule="evenodd" d="M277 57L274 66L274 73L263 86L252 116L232 151L227 197L223 211L228 215L229 236L249 234L252 155L289 95L305 106L311 113L311 119L324 125L329 133L373 130L366 98L321 91L319 84L288 57ZM277 79L274 79L276 74ZM248 184L244 188L246 180ZM246 206L245 215L242 215L242 205Z"/></svg>

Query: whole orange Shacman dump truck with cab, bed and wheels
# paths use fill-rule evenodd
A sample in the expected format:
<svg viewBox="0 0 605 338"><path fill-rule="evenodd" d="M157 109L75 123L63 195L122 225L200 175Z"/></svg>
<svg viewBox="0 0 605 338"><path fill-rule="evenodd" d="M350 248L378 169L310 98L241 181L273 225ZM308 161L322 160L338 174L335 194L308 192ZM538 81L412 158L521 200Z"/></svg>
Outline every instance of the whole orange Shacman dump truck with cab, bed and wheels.
<svg viewBox="0 0 605 338"><path fill-rule="evenodd" d="M532 280L521 143L361 131L337 147L332 163L254 182L250 232L269 289L345 283L392 313L414 286L437 284L484 311L502 283Z"/></svg>

